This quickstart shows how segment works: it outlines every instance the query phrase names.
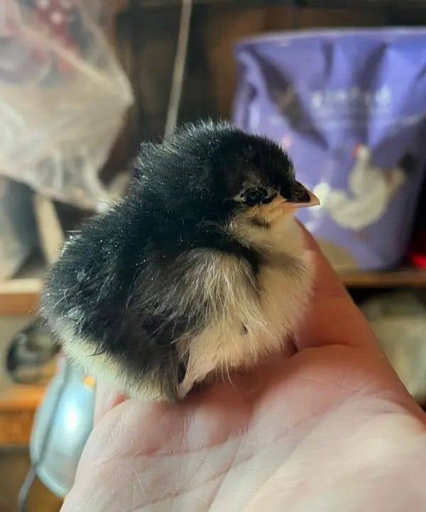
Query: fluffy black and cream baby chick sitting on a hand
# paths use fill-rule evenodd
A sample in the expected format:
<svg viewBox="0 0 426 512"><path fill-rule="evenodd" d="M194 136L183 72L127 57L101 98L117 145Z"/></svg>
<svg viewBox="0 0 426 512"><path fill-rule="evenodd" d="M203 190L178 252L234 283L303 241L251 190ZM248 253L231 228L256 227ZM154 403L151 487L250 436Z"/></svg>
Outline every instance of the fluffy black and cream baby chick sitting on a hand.
<svg viewBox="0 0 426 512"><path fill-rule="evenodd" d="M184 398L282 350L312 282L293 218L317 198L264 137L187 125L66 242L43 292L65 352L132 396Z"/></svg>

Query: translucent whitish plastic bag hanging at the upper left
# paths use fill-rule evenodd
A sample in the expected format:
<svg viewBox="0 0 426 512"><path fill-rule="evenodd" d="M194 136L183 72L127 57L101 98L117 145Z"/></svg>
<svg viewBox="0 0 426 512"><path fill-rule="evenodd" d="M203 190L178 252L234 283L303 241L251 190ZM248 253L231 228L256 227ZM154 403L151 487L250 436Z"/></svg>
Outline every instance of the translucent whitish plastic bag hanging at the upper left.
<svg viewBox="0 0 426 512"><path fill-rule="evenodd" d="M0 6L0 173L96 208L107 198L98 173L132 96L85 4Z"/></svg>

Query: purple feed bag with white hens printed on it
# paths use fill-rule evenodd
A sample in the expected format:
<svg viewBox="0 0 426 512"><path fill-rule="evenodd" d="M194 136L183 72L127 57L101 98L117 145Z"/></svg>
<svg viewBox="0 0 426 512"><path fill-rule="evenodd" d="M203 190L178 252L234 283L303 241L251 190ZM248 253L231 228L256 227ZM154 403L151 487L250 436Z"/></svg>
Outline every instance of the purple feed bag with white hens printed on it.
<svg viewBox="0 0 426 512"><path fill-rule="evenodd" d="M288 150L321 206L299 218L337 270L400 262L426 157L426 30L320 31L236 46L234 122Z"/></svg>

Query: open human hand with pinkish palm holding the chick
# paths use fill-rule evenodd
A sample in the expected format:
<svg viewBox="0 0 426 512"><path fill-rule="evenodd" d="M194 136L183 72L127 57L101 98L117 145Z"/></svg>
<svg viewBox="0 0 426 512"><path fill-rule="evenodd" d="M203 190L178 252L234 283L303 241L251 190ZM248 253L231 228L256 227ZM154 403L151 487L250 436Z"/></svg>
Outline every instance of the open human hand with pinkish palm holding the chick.
<svg viewBox="0 0 426 512"><path fill-rule="evenodd" d="M62 512L425 511L426 415L307 235L292 354L175 404L99 383Z"/></svg>

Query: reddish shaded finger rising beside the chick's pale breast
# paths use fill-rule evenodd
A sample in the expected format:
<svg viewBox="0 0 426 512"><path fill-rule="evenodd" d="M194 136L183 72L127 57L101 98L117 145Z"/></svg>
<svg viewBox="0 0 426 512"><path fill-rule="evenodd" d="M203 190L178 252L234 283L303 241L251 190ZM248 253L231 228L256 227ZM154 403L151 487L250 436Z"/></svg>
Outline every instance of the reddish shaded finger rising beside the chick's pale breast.
<svg viewBox="0 0 426 512"><path fill-rule="evenodd" d="M341 280L322 254L312 235L302 228L308 247L307 257L315 277L309 306L296 331L299 350L313 346L368 346L378 350L371 328L346 292Z"/></svg>

